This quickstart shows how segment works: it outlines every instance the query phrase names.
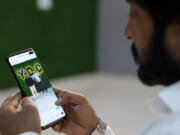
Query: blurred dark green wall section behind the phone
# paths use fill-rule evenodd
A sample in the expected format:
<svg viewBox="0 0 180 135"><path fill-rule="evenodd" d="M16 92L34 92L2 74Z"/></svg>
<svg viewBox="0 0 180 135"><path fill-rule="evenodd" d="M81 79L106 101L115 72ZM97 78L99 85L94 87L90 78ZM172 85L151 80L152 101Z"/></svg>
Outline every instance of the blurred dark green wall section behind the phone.
<svg viewBox="0 0 180 135"><path fill-rule="evenodd" d="M49 78L96 69L95 0L0 2L1 88L14 86L5 63L10 53L34 48Z"/></svg>

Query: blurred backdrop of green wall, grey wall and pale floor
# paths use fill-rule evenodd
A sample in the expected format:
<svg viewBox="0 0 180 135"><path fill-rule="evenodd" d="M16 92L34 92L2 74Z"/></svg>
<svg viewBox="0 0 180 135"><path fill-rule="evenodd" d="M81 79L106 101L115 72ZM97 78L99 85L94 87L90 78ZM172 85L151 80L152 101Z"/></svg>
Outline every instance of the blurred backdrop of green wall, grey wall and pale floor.
<svg viewBox="0 0 180 135"><path fill-rule="evenodd" d="M128 14L125 0L1 1L0 103L18 91L5 56L34 48L54 86L83 93L117 135L139 133L156 118L146 100L162 87L136 76Z"/></svg>

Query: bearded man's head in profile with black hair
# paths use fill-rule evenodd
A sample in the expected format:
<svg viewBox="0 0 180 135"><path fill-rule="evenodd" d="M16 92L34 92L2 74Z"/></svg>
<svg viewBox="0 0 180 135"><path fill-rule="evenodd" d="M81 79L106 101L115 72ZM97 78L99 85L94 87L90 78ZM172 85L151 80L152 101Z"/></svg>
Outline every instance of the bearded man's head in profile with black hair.
<svg viewBox="0 0 180 135"><path fill-rule="evenodd" d="M128 0L125 30L140 79L149 85L169 85L180 79L180 9L176 0Z"/></svg>

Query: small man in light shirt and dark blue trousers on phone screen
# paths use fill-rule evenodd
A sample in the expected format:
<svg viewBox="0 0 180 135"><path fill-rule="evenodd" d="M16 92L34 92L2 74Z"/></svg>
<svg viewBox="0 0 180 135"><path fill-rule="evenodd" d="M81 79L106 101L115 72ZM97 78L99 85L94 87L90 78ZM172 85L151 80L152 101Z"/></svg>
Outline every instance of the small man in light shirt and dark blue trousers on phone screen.
<svg viewBox="0 0 180 135"><path fill-rule="evenodd" d="M43 90L43 92L48 92L45 84L44 84L43 81L41 80L40 74L38 74L38 73L36 73L35 71L33 71L32 79L33 79L35 82L37 82L38 86L41 88L41 90Z"/></svg>

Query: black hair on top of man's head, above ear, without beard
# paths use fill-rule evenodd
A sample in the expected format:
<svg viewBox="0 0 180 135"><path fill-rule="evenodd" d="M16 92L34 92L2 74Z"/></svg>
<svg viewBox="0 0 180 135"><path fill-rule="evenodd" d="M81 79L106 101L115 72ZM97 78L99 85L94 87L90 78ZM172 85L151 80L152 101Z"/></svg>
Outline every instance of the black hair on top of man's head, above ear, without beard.
<svg viewBox="0 0 180 135"><path fill-rule="evenodd" d="M156 25L180 24L180 0L127 0L149 11Z"/></svg>

